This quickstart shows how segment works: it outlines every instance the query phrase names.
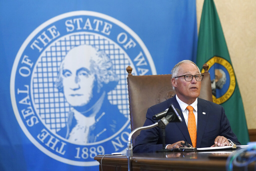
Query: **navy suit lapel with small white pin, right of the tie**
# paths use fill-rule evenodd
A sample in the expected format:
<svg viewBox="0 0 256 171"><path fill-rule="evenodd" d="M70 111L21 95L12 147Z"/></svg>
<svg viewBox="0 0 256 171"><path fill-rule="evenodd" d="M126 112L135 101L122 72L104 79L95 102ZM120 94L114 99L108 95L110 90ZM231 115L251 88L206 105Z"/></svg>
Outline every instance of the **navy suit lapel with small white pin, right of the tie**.
<svg viewBox="0 0 256 171"><path fill-rule="evenodd" d="M205 126L209 116L209 108L206 103L198 98L197 102L197 142L196 146L199 148L204 134Z"/></svg>

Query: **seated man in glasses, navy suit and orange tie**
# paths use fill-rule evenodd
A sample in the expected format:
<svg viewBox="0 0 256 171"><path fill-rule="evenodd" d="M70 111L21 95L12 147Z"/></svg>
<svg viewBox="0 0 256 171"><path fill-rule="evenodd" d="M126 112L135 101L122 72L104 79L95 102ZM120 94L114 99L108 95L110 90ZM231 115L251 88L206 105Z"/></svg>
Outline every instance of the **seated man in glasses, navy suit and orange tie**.
<svg viewBox="0 0 256 171"><path fill-rule="evenodd" d="M156 123L152 116L171 104L181 111L183 122L169 123L165 128L167 149L179 148L185 141L197 148L229 145L228 139L240 145L224 108L198 98L202 79L203 75L195 63L189 60L179 62L172 69L172 86L176 95L147 110L144 126ZM154 127L141 131L135 139L133 152L155 152L159 149L162 149L162 134L159 127Z"/></svg>

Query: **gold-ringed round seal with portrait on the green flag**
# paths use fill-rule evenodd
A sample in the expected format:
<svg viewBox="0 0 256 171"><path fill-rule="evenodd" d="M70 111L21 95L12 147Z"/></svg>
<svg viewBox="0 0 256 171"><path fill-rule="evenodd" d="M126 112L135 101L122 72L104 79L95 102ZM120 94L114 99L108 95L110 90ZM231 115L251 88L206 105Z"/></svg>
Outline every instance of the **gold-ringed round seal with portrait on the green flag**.
<svg viewBox="0 0 256 171"><path fill-rule="evenodd" d="M232 65L219 56L212 57L206 63L209 65L211 76L213 102L224 103L231 97L236 87L236 77Z"/></svg>

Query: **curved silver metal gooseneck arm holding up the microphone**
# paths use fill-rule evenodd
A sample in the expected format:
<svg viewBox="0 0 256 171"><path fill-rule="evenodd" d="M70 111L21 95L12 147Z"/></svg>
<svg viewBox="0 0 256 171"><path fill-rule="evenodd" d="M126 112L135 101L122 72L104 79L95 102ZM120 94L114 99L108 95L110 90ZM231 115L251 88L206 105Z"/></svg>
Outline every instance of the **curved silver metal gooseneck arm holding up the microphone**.
<svg viewBox="0 0 256 171"><path fill-rule="evenodd" d="M126 149L126 155L127 155L127 158L128 158L128 171L131 171L132 168L131 168L131 159L132 159L132 143L131 143L131 140L132 140L132 135L137 132L138 130L143 130L143 129L149 129L149 128L154 128L158 126L158 122L157 123L154 123L152 125L148 125L148 126L143 126L143 127L138 127L136 129L134 129L129 137L128 137L128 142L127 142L127 149Z"/></svg>

